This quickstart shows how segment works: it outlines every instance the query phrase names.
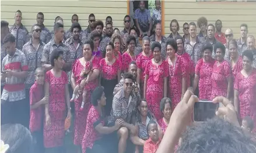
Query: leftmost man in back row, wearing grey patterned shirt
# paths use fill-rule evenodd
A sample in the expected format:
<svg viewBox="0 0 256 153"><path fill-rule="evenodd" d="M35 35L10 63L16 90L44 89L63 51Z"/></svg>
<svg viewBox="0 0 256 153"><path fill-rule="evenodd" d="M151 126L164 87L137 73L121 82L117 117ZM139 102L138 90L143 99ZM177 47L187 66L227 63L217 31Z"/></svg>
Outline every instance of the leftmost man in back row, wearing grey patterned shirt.
<svg viewBox="0 0 256 153"><path fill-rule="evenodd" d="M23 45L29 41L29 32L22 24L22 12L17 10L15 13L15 24L10 27L10 33L16 39L16 48L22 49Z"/></svg>

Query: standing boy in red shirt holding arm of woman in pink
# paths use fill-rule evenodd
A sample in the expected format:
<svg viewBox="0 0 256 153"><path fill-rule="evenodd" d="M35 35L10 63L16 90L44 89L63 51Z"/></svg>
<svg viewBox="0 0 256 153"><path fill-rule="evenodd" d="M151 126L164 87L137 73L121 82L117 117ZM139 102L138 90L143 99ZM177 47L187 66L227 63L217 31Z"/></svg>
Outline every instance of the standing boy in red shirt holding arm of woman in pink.
<svg viewBox="0 0 256 153"><path fill-rule="evenodd" d="M43 108L48 103L44 97L44 71L43 67L36 69L36 82L30 88L30 123L29 129L36 143L35 151L43 152Z"/></svg>

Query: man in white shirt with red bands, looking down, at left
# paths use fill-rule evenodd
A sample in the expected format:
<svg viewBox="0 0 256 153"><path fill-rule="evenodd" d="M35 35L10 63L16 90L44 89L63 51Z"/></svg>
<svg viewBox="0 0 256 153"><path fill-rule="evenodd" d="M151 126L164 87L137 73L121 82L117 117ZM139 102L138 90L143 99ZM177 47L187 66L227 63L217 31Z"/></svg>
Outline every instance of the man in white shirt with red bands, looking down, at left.
<svg viewBox="0 0 256 153"><path fill-rule="evenodd" d="M2 61L1 82L5 86L1 95L1 124L20 123L29 127L29 102L24 85L28 70L26 56L15 48L12 34L6 35L3 44L8 55Z"/></svg>

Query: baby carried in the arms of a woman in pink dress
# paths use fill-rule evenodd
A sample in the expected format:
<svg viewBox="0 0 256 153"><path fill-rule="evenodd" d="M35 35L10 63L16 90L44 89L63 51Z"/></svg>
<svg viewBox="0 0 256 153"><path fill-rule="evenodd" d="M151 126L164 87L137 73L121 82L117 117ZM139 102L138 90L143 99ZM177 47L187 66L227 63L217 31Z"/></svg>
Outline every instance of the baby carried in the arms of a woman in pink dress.
<svg viewBox="0 0 256 153"><path fill-rule="evenodd" d="M86 84L89 82L89 78L92 75L92 62L86 62L85 63L85 68L83 69L83 71L80 73L80 77L82 77L82 81L79 84L76 85L74 91L73 91L73 95L70 101L73 101L76 97L76 94L78 94L78 90L80 87L85 87ZM86 94L87 94L87 90L90 90L89 88L84 88L83 89L83 100L82 100L82 105L80 107L80 110L82 111L83 109L83 105L85 105L85 99L86 99Z"/></svg>

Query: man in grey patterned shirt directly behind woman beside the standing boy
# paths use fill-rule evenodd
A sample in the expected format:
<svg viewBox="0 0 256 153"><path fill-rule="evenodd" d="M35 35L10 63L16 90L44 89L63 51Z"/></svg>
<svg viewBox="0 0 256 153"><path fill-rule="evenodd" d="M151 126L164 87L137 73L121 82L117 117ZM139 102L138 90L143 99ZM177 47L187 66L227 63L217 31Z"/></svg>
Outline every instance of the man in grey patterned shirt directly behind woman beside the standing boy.
<svg viewBox="0 0 256 153"><path fill-rule="evenodd" d="M63 57L65 64L63 66L63 69L65 72L68 72L71 70L72 63L70 59L70 51L69 48L63 44L64 40L64 26L61 23L55 23L54 24L54 38L50 42L48 42L43 49L43 55L41 59L41 64L45 68L45 70L50 70L52 69L52 66L50 64L50 55L51 52L55 48L61 48L62 51L64 52Z"/></svg>

